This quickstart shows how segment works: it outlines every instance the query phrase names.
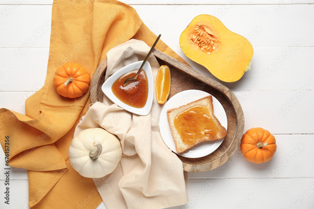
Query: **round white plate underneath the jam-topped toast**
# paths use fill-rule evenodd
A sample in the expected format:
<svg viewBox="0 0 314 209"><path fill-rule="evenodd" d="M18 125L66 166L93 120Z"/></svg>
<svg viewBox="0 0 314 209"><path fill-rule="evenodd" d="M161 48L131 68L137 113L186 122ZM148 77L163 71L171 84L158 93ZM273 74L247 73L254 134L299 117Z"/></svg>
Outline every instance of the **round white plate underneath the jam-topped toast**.
<svg viewBox="0 0 314 209"><path fill-rule="evenodd" d="M165 144L171 149L174 153L179 154L183 157L187 158L200 158L204 157L212 152L214 152L222 143L224 138L222 139L217 139L215 141L204 141L201 142L195 146L193 146L191 149L188 149L187 151L183 153L178 153L176 151L176 145L173 140L172 134L171 134L171 129L168 123L168 118L167 118L167 110L175 107L180 107L181 105L185 105L189 102L193 102L195 100L198 100L200 98L209 96L210 94L205 92L205 91L200 91L200 90L186 90L186 91L181 91L171 97L168 102L165 103L163 109L161 110L160 113L160 118L159 118L159 130L161 137L163 138ZM214 106L214 115L216 118L219 120L222 126L224 126L227 130L227 115L224 110L224 107L220 104L220 102L213 97L213 106Z"/></svg>

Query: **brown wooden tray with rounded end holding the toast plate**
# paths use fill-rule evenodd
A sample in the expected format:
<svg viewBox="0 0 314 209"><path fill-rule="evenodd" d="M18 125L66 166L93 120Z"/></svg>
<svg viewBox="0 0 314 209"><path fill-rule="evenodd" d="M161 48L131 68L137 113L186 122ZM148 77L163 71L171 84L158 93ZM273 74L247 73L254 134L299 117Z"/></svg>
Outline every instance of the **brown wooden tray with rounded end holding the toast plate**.
<svg viewBox="0 0 314 209"><path fill-rule="evenodd" d="M183 163L183 169L189 172L203 172L223 165L235 153L243 135L244 115L236 96L226 86L161 51L154 49L153 54L160 65L168 65L170 67L171 90L169 98L180 91L188 89L206 91L218 99L227 115L227 136L218 149L201 158L186 158L177 155ZM100 63L93 76L90 88L92 103L102 102L103 92L101 91L101 85L105 80L106 69L107 59Z"/></svg>

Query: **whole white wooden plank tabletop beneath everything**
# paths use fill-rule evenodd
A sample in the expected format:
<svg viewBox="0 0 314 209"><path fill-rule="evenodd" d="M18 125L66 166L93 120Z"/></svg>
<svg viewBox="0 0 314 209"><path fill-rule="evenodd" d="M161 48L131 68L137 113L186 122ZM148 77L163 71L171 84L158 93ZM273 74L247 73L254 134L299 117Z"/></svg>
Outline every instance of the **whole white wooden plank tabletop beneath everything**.
<svg viewBox="0 0 314 209"><path fill-rule="evenodd" d="M252 70L235 83L222 83L241 103L244 131L262 127L277 140L277 152L267 163L250 163L238 149L215 170L189 173L189 202L173 208L314 208L314 1L123 2L194 69L211 78L179 46L192 18L214 15L246 37L254 47ZM0 1L0 107L25 113L25 99L44 85L51 8L52 0ZM11 168L10 205L4 204L0 153L0 208L28 208L27 171L19 168Z"/></svg>

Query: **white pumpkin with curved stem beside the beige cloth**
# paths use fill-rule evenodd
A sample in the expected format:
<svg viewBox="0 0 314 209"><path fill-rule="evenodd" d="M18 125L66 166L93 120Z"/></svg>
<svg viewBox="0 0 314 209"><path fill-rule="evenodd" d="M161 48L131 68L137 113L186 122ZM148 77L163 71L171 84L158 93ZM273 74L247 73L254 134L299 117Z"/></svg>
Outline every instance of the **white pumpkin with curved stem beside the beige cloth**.
<svg viewBox="0 0 314 209"><path fill-rule="evenodd" d="M119 139L102 128L81 131L69 147L71 166L87 178L101 178L112 173L121 156Z"/></svg>

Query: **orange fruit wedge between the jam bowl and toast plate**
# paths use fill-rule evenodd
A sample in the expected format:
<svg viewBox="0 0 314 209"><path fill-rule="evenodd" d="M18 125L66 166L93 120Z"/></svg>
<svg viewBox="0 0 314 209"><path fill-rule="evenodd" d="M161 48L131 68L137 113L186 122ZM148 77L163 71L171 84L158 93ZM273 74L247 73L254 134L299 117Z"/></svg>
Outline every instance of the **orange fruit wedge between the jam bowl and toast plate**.
<svg viewBox="0 0 314 209"><path fill-rule="evenodd" d="M170 93L171 76L167 65L161 65L156 78L156 98L159 104L164 104Z"/></svg>

